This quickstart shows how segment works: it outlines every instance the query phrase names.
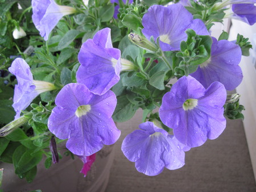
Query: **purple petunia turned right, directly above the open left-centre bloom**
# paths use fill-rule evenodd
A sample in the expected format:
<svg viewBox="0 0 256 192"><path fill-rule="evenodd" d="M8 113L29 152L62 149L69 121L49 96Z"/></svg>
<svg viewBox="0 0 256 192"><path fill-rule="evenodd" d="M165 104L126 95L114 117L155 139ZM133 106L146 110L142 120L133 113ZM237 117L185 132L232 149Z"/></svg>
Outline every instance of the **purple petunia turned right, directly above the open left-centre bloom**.
<svg viewBox="0 0 256 192"><path fill-rule="evenodd" d="M120 50L112 46L110 28L98 31L93 39L82 44L77 82L86 85L94 94L105 94L120 79L120 57Z"/></svg>

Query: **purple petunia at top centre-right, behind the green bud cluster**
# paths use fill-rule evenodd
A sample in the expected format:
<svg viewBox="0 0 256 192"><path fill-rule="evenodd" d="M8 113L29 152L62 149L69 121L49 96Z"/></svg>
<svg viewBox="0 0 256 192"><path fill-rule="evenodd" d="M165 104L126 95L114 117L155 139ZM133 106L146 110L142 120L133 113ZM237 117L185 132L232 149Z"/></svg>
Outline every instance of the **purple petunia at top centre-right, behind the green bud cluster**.
<svg viewBox="0 0 256 192"><path fill-rule="evenodd" d="M198 35L209 35L207 28L200 19L193 19L193 15L179 3L164 7L153 5L142 18L144 26L142 33L147 39L151 36L159 37L163 51L180 50L180 42L187 39L185 31L191 28Z"/></svg>

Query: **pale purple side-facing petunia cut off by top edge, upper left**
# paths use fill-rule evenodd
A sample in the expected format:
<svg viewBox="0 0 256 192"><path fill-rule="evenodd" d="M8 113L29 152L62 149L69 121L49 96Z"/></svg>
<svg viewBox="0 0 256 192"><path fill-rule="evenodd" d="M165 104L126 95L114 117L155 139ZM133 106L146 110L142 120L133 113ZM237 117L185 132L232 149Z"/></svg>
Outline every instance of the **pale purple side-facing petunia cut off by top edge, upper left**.
<svg viewBox="0 0 256 192"><path fill-rule="evenodd" d="M49 33L64 15L73 14L73 7L57 5L54 0L32 0L32 20L35 27L48 40Z"/></svg>

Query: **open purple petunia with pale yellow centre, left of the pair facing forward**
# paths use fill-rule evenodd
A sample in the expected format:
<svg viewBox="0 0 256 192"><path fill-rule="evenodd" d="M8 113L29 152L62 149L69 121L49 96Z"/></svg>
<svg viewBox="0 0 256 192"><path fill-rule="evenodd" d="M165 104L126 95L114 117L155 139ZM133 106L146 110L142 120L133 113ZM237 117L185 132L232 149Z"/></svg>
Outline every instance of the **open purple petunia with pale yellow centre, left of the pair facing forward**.
<svg viewBox="0 0 256 192"><path fill-rule="evenodd" d="M83 84L68 84L55 99L48 128L75 155L90 156L117 141L120 131L112 119L117 99L112 91L93 94Z"/></svg>

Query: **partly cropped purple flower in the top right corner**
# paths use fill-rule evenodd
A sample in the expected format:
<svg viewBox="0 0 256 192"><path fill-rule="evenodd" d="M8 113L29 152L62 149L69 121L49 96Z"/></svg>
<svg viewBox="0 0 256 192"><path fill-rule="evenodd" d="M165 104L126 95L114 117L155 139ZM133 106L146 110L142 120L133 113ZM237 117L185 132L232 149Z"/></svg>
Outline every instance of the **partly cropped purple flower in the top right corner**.
<svg viewBox="0 0 256 192"><path fill-rule="evenodd" d="M232 18L242 20L251 26L256 23L256 6L254 3L242 3L232 5L234 14Z"/></svg>

